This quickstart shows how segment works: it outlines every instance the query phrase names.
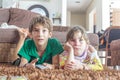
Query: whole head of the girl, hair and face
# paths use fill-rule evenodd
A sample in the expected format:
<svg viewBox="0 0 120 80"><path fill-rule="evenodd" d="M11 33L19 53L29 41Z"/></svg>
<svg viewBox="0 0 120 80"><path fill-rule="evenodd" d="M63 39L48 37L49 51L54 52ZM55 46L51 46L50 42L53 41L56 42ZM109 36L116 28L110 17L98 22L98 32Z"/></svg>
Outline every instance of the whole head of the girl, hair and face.
<svg viewBox="0 0 120 80"><path fill-rule="evenodd" d="M82 26L71 28L66 38L67 42L73 47L76 56L80 56L89 44L87 34Z"/></svg>

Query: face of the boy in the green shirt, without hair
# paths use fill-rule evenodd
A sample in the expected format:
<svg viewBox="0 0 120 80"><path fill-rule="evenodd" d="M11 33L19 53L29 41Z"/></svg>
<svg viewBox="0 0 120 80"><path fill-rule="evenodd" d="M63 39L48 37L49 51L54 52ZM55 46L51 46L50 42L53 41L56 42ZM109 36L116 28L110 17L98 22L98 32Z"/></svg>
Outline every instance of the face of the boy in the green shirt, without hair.
<svg viewBox="0 0 120 80"><path fill-rule="evenodd" d="M41 24L36 24L32 30L32 38L37 46L47 45L48 38L52 36L48 28Z"/></svg>

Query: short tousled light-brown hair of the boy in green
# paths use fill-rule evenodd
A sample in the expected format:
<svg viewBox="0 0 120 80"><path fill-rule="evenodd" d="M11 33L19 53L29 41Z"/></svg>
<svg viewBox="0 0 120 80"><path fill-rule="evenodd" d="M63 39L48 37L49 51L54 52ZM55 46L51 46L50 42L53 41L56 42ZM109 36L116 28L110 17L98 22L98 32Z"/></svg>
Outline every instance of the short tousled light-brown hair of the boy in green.
<svg viewBox="0 0 120 80"><path fill-rule="evenodd" d="M53 30L53 26L52 26L52 23L49 18L47 18L45 16L37 16L31 20L30 27L29 27L30 33L33 31L33 27L36 24L40 24L40 25L44 26L45 28L47 28L49 30L49 32L52 32L52 30Z"/></svg>

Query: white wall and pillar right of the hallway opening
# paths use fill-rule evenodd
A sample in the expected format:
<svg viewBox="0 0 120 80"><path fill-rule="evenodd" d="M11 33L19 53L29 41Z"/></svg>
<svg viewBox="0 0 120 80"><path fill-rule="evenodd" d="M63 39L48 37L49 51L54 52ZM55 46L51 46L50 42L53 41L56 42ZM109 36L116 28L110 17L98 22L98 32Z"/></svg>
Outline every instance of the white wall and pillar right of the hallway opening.
<svg viewBox="0 0 120 80"><path fill-rule="evenodd" d="M86 25L89 32L92 32L90 13L96 10L96 32L101 29L105 30L110 26L109 0L93 0L86 12Z"/></svg>

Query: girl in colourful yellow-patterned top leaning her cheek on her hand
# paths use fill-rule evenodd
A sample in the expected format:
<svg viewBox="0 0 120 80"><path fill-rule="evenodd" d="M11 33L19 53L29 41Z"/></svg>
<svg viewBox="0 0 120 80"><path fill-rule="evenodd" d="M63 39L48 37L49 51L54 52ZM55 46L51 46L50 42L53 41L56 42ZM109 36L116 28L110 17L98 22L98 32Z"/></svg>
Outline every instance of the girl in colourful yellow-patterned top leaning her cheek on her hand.
<svg viewBox="0 0 120 80"><path fill-rule="evenodd" d="M67 34L64 52L61 54L61 66L64 69L102 70L103 66L97 51L89 44L87 34L83 27L75 26ZM64 57L63 57L64 56ZM65 63L65 64L64 64Z"/></svg>

